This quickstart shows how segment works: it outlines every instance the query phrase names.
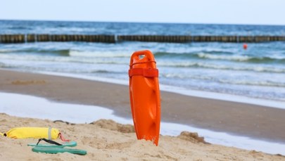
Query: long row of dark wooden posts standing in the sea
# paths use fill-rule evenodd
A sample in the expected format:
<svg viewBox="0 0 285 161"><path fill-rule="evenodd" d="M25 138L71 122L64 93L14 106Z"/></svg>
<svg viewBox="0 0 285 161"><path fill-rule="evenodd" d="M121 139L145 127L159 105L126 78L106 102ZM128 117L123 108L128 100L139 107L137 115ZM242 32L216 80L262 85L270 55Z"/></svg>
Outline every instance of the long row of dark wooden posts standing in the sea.
<svg viewBox="0 0 285 161"><path fill-rule="evenodd" d="M183 36L183 35L89 35L89 34L0 34L0 43L43 41L87 41L115 43L118 41L146 42L265 42L285 41L285 36Z"/></svg>

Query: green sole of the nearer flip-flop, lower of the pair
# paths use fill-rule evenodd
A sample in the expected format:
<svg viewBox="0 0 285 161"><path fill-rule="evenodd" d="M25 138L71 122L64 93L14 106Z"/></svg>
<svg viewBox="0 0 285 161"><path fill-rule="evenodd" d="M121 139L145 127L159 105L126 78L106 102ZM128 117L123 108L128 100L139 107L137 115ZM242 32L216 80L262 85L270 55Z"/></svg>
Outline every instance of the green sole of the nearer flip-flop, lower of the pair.
<svg viewBox="0 0 285 161"><path fill-rule="evenodd" d="M33 152L36 153L49 153L49 154L56 154L56 153L72 153L72 154L77 154L77 155L86 155L87 151L86 150L81 150L81 149L72 149L72 148L59 148L59 147L38 147L35 146L32 148Z"/></svg>

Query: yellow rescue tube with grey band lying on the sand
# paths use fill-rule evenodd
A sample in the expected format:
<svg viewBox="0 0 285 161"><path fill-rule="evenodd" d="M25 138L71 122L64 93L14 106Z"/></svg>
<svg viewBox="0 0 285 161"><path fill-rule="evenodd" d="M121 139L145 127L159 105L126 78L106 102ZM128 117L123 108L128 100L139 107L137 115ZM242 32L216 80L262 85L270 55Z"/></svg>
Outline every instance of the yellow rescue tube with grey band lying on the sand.
<svg viewBox="0 0 285 161"><path fill-rule="evenodd" d="M15 127L5 134L0 133L2 136L7 136L12 139L57 139L60 131L51 127Z"/></svg>

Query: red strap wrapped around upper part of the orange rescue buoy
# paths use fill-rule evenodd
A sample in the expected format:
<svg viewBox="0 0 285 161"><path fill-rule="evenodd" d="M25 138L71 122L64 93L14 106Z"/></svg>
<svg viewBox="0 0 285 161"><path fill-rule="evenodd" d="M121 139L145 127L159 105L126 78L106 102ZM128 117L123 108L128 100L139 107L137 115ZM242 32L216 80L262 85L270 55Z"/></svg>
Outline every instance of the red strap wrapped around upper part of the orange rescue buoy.
<svg viewBox="0 0 285 161"><path fill-rule="evenodd" d="M129 77L141 75L144 77L158 77L158 69L133 68L129 70Z"/></svg>

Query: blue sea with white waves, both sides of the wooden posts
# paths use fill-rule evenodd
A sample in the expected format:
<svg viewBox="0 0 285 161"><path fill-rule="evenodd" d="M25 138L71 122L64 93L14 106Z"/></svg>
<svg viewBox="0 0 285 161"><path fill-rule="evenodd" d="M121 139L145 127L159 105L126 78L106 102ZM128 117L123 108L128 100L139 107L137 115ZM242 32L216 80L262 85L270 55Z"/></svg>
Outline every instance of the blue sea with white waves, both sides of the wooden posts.
<svg viewBox="0 0 285 161"><path fill-rule="evenodd" d="M0 20L0 34L285 35L285 26ZM285 42L248 44L120 41L0 44L0 67L129 79L134 51L153 52L160 84L185 90L245 96L285 105Z"/></svg>

